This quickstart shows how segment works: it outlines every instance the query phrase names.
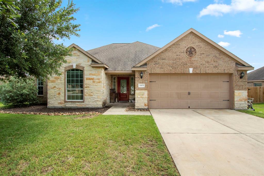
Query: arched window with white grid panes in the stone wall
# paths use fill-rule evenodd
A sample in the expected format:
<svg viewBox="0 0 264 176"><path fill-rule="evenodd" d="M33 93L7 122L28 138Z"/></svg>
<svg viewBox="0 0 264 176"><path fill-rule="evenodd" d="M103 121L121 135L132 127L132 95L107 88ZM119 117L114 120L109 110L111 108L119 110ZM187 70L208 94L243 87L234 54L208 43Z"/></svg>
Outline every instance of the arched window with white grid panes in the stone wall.
<svg viewBox="0 0 264 176"><path fill-rule="evenodd" d="M68 101L83 100L83 71L71 69L67 71L67 90L66 97Z"/></svg>

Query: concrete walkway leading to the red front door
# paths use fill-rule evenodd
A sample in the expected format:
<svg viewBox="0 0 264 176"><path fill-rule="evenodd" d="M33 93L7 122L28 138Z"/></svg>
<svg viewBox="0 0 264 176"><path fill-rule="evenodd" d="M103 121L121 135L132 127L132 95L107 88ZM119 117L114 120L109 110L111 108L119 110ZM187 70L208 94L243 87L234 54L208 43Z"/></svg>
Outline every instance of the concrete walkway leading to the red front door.
<svg viewBox="0 0 264 176"><path fill-rule="evenodd" d="M129 105L135 105L135 103L128 102L116 102L109 103L107 106L112 106L103 115L151 115L149 111L125 111Z"/></svg>

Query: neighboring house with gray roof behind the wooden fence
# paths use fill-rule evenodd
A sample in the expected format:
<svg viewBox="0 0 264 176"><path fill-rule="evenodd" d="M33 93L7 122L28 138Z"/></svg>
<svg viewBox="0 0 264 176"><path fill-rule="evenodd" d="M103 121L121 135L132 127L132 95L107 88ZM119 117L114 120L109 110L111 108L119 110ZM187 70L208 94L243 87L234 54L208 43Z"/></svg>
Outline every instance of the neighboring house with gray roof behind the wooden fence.
<svg viewBox="0 0 264 176"><path fill-rule="evenodd" d="M264 86L264 67L248 73L248 87Z"/></svg>

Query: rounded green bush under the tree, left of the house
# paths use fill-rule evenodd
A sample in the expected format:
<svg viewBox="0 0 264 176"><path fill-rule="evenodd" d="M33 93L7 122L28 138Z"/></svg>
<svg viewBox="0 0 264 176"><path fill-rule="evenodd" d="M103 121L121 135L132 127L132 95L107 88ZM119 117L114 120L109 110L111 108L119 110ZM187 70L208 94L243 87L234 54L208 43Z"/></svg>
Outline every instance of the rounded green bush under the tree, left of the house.
<svg viewBox="0 0 264 176"><path fill-rule="evenodd" d="M39 103L35 81L11 78L0 85L0 100L4 105L16 106Z"/></svg>

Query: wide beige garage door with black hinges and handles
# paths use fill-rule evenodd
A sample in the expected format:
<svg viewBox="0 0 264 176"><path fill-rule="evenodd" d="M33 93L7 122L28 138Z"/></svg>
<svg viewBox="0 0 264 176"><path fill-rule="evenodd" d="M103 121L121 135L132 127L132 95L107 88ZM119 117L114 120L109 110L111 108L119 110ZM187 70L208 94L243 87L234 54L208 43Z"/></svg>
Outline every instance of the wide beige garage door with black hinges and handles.
<svg viewBox="0 0 264 176"><path fill-rule="evenodd" d="M150 108L229 108L228 74L150 74Z"/></svg>

